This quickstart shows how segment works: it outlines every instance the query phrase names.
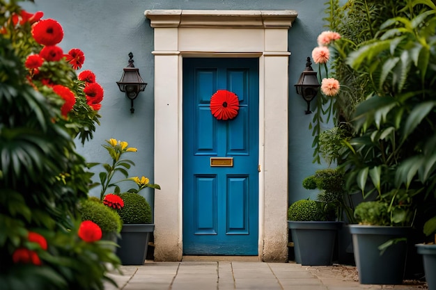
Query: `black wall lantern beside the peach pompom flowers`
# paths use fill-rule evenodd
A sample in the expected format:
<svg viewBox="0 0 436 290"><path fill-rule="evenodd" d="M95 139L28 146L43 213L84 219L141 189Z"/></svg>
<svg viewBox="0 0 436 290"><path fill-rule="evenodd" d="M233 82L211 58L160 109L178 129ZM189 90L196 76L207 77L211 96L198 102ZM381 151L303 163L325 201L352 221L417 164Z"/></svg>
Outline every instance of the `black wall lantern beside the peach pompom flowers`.
<svg viewBox="0 0 436 290"><path fill-rule="evenodd" d="M307 58L306 68L304 72L299 76L297 84L295 84L295 88L297 90L297 94L301 95L307 103L306 114L312 113L310 109L310 104L312 99L316 97L318 93L318 88L320 87L320 83L318 82L317 72L313 72L311 58Z"/></svg>

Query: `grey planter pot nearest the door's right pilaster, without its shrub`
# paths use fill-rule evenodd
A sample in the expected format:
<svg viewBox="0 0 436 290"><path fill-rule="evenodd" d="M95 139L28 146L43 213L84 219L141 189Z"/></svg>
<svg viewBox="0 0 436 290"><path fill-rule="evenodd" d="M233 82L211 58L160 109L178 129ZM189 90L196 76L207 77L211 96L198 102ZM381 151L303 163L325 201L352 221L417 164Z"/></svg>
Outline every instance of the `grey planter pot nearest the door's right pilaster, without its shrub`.
<svg viewBox="0 0 436 290"><path fill-rule="evenodd" d="M332 265L336 233L343 222L288 220L294 241L295 261L304 266Z"/></svg>

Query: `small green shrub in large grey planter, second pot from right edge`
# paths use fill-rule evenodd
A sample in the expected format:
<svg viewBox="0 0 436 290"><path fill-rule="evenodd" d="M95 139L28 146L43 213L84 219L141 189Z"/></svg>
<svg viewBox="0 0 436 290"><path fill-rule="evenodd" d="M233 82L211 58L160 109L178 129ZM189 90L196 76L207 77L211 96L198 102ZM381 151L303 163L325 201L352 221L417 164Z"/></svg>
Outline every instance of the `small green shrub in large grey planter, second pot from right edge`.
<svg viewBox="0 0 436 290"><path fill-rule="evenodd" d="M359 225L350 225L361 284L402 284L410 226L394 226L388 202L357 204Z"/></svg>

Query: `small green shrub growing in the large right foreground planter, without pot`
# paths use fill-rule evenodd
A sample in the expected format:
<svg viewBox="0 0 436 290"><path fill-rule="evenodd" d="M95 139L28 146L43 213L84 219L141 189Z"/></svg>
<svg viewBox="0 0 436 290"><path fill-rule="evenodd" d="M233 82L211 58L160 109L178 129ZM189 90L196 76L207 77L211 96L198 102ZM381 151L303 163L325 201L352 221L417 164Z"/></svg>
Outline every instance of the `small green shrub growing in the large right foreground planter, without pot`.
<svg viewBox="0 0 436 290"><path fill-rule="evenodd" d="M362 225L389 225L388 204L371 201L357 204L355 218Z"/></svg>

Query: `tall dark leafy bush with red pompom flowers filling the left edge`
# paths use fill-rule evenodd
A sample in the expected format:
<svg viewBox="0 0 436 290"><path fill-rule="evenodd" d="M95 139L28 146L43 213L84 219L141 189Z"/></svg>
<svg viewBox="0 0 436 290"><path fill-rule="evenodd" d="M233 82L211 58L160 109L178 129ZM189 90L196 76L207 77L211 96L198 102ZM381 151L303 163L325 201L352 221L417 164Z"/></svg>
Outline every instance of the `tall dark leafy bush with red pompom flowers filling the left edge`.
<svg viewBox="0 0 436 290"><path fill-rule="evenodd" d="M102 95L87 104L84 55L65 56L61 25L42 16L0 0L0 288L102 290L120 261L100 228L80 227L91 173L75 145Z"/></svg>

